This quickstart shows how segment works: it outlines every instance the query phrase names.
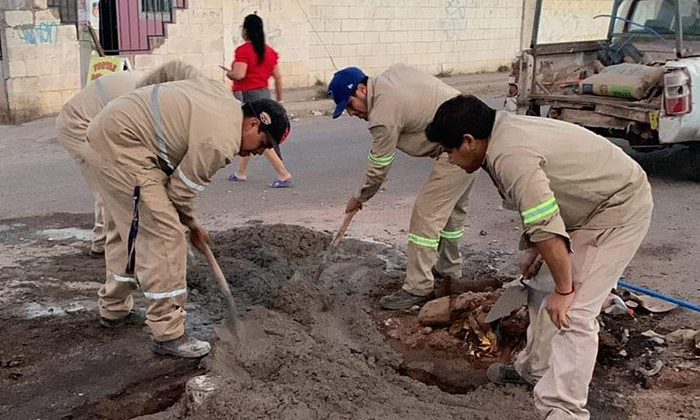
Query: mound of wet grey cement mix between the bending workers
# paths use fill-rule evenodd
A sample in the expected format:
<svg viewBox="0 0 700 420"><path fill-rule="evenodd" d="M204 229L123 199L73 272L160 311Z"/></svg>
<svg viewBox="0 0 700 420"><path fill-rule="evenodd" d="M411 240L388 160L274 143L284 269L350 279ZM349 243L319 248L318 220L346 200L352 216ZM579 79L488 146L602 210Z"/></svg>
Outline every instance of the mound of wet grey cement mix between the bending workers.
<svg viewBox="0 0 700 420"><path fill-rule="evenodd" d="M259 348L244 355L215 352L214 373L217 366L218 373L231 364L242 367L247 382L240 385L254 389L258 397L224 391L226 397L212 404L213 412L254 416L287 394L289 401L303 401L313 412L331 407L342 412L340 401L348 395L350 400L367 399L371 406L376 399L369 396L387 394L384 382L395 381L395 376L460 394L487 382L483 366L474 370L458 344L439 351L386 339L382 324L394 313L377 307L379 298L397 290L403 280L404 272L395 269L405 263L398 248L346 240L319 283L313 284L329 240L327 234L288 225L243 227L213 235L212 249L232 292L241 307L249 307L241 316L253 320L267 336L267 343L257 343ZM225 305L208 266L197 259L189 267L190 300L214 321L220 320ZM324 305L328 297L333 302L330 308ZM415 313L398 316L406 322L415 320ZM364 378L357 377L360 372ZM239 379L226 378L234 383ZM385 403L392 400L389 395L382 398Z"/></svg>

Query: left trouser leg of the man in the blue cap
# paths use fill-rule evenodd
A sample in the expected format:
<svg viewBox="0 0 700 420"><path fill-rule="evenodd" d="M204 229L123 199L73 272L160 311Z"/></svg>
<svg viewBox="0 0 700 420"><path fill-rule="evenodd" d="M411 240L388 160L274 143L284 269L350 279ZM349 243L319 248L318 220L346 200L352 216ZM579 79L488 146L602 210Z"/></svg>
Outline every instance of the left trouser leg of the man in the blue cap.
<svg viewBox="0 0 700 420"><path fill-rule="evenodd" d="M451 165L447 161L447 154L441 155L435 161L430 177L413 205L409 232L414 238L428 238L436 242L430 243L434 246L424 246L421 245L421 241L409 241L406 281L403 286L408 293L425 296L433 292L435 281L431 269L438 259L440 231L457 230L456 227L448 228L447 222L458 203L461 203L462 210L456 212L454 224L457 224L458 219L464 223L462 213L466 206L465 193L474 178L473 174L467 174L459 167ZM459 255L459 245L452 249Z"/></svg>

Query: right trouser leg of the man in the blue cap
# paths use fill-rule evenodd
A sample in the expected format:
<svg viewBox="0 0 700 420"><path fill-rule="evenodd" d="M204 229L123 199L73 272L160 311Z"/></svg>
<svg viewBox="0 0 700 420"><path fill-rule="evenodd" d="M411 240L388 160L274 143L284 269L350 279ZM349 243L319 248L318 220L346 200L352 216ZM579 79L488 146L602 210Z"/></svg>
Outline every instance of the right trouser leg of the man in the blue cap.
<svg viewBox="0 0 700 420"><path fill-rule="evenodd" d="M467 217L469 194L474 186L473 179L474 177L452 209L447 224L440 231L440 246L438 247L435 270L446 277L462 278L462 254L459 252L459 247L462 245L462 237L464 236L464 220Z"/></svg>

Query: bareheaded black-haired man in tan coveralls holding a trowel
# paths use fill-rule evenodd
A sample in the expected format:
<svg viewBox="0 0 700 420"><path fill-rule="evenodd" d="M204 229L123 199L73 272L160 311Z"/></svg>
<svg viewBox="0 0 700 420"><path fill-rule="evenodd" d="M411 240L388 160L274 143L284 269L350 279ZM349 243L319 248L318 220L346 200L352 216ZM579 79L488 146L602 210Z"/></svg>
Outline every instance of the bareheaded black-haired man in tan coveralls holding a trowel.
<svg viewBox="0 0 700 420"><path fill-rule="evenodd" d="M466 172L491 175L504 205L522 218L523 275L534 276L543 259L553 279L539 305L528 299L527 347L516 365L493 365L489 377L536 382L535 403L547 419L588 419L596 317L649 228L646 174L584 128L496 112L473 96L441 105L426 132Z"/></svg>

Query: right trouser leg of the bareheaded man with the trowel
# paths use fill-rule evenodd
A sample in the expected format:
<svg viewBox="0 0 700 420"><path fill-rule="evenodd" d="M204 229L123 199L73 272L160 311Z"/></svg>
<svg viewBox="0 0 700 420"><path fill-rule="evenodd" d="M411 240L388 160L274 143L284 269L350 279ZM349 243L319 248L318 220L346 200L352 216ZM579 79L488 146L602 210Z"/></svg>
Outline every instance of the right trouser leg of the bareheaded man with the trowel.
<svg viewBox="0 0 700 420"><path fill-rule="evenodd" d="M649 219L630 226L577 230L571 234L571 269L576 294L569 308L571 327L551 341L550 367L535 386L535 406L547 419L588 420L588 386L598 353L596 316L632 260Z"/></svg>

